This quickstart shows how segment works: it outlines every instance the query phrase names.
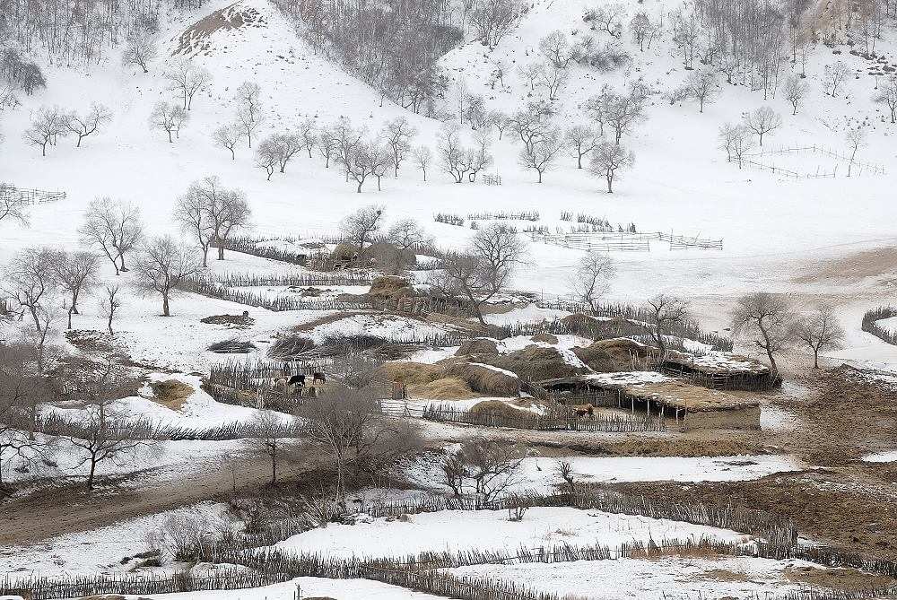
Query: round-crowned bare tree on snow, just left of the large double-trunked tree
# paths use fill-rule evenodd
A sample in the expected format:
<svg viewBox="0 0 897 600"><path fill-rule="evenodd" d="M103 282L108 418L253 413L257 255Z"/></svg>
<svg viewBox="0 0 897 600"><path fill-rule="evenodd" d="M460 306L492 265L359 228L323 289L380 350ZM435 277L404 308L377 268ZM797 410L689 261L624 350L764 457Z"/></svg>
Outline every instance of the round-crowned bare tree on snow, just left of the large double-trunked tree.
<svg viewBox="0 0 897 600"><path fill-rule="evenodd" d="M144 226L140 209L134 204L103 197L87 207L78 232L84 244L100 250L112 261L118 275L127 272L125 256L140 241Z"/></svg>

